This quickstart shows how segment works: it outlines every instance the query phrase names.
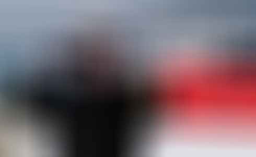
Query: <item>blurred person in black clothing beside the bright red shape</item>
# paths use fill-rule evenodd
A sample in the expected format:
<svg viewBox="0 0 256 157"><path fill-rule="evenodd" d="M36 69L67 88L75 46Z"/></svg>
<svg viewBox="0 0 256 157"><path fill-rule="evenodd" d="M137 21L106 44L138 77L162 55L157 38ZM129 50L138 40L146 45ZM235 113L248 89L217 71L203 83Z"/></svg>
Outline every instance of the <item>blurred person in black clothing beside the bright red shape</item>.
<svg viewBox="0 0 256 157"><path fill-rule="evenodd" d="M72 41L69 64L48 71L30 99L40 110L64 115L71 156L119 156L130 103L118 51L106 34ZM124 64L123 64L124 65ZM39 103L38 103L39 102Z"/></svg>

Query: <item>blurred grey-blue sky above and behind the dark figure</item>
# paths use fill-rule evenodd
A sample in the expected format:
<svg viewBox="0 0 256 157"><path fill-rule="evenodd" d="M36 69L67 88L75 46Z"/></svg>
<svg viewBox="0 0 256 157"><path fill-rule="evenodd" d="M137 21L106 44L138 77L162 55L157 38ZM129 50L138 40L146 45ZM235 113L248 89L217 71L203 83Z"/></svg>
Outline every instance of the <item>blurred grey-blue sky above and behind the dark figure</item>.
<svg viewBox="0 0 256 157"><path fill-rule="evenodd" d="M41 55L47 55L45 42L56 42L61 35L83 29L96 19L125 26L123 30L130 31L132 40L145 52L156 52L155 49L169 46L177 38L201 42L205 41L201 38L205 34L252 32L255 5L253 0L2 0L1 73L10 67L17 70L40 63Z"/></svg>

